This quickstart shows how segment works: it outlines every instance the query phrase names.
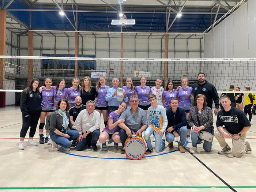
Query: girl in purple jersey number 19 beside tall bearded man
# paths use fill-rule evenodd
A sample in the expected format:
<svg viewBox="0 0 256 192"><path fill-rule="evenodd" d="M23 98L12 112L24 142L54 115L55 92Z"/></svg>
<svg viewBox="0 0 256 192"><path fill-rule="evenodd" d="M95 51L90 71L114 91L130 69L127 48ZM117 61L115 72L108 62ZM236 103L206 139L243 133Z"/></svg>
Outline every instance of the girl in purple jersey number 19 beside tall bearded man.
<svg viewBox="0 0 256 192"><path fill-rule="evenodd" d="M178 90L178 94L179 94L179 107L185 110L186 118L188 120L189 110L192 108L191 96L194 97L194 94L193 94L193 88L188 87L188 78L186 75L183 75L181 77L181 87ZM187 128L188 128L187 141L188 143L191 143L191 138L190 138L191 127L188 125L188 123L187 123Z"/></svg>

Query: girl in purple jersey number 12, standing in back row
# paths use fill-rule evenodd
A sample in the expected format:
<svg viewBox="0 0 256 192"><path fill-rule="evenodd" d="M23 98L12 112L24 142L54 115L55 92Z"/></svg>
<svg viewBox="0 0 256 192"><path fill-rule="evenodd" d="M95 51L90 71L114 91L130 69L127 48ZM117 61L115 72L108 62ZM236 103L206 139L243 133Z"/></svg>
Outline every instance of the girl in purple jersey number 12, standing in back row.
<svg viewBox="0 0 256 192"><path fill-rule="evenodd" d="M147 79L142 76L140 78L140 86L135 87L135 95L138 95L139 108L143 109L147 114L147 109L151 106L148 96L152 94L150 87L146 86Z"/></svg>

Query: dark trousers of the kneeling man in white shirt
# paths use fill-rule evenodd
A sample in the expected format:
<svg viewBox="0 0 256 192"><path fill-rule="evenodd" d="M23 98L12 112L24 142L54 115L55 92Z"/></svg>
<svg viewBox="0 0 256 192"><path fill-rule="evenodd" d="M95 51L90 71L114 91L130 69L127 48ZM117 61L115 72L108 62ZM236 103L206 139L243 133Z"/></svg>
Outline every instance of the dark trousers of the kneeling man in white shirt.
<svg viewBox="0 0 256 192"><path fill-rule="evenodd" d="M89 133L86 136L86 138L83 138L82 141L80 141L76 144L76 149L78 151L82 151L85 149L86 146L96 145L97 141L99 140L100 134L101 134L101 131L99 131L99 129L96 129L92 133Z"/></svg>

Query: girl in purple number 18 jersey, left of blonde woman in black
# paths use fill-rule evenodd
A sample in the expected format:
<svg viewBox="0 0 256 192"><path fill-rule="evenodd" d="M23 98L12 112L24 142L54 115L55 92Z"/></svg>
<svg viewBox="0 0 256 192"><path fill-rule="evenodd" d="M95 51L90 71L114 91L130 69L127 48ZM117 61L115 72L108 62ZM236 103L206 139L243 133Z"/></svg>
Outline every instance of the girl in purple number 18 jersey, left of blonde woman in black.
<svg viewBox="0 0 256 192"><path fill-rule="evenodd" d="M75 106L75 98L81 95L81 89L79 88L80 79L75 77L72 79L72 87L68 88L66 91L66 98L68 98L68 102L70 107Z"/></svg>

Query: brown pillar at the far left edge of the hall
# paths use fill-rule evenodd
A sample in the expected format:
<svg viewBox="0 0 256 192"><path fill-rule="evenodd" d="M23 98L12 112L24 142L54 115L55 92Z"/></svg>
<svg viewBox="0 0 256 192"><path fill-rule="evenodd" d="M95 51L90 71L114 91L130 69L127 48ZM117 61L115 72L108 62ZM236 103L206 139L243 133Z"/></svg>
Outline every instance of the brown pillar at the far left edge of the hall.
<svg viewBox="0 0 256 192"><path fill-rule="evenodd" d="M0 10L0 55L5 55L6 10ZM5 89L5 63L0 59L0 89ZM0 92L0 108L5 107L5 92Z"/></svg>

